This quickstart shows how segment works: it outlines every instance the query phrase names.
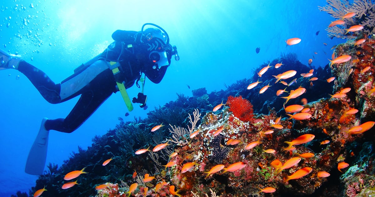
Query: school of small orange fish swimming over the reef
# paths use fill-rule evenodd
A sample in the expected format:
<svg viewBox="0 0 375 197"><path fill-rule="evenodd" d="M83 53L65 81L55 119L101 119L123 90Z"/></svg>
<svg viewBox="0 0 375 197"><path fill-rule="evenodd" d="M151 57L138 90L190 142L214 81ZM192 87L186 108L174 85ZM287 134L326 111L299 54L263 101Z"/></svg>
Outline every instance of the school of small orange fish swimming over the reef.
<svg viewBox="0 0 375 197"><path fill-rule="evenodd" d="M344 19L345 18L350 18L350 17L354 17L355 13L351 12L351 13L348 13L346 14L345 16L342 17L341 20L336 20L336 21L333 21L331 24L329 24L329 27L333 27L333 26L336 26L336 25L342 25L345 23ZM360 31L363 29L363 26L360 26L360 25L355 25L355 26L352 26L350 27L349 29L347 29L346 33L348 32L356 32L356 31ZM345 34L346 34L345 33ZM291 39L288 39L287 41L285 41L287 43L287 45L295 45L295 44L298 44L301 42L301 39L299 38L291 38ZM366 42L366 39L360 39L358 41L355 42L355 45L361 45L363 43ZM325 44L326 45L326 44ZM331 65L332 64L340 64L340 63L345 63L345 62L348 62L351 60L351 56L349 55L342 55L342 56L339 56L339 57L334 57L334 54L332 55L332 60L329 60ZM353 61L358 61L358 59L356 60L353 60ZM309 59L309 65L312 63L312 59ZM280 68L281 66L283 66L284 64L281 63L277 63L274 67L275 69L278 69ZM258 76L259 77L262 77L262 75L264 75L264 73L266 73L270 68L272 68L273 66L272 65L267 65L266 67L262 68L259 72L258 72ZM366 67L365 69L363 69L361 71L361 73L365 73L366 71L368 71L370 69L370 67ZM278 74L278 75L273 75L273 77L276 78L276 81L275 83L282 83L284 84L286 87L285 89L281 89L281 90L278 90L276 95L277 96L281 96L285 93L289 93L288 96L284 96L284 97L281 97L281 98L284 98L285 99L285 103L284 103L284 110L286 112L286 115L289 117L288 120L290 119L294 119L294 120L307 120L307 119L310 119L312 117L312 114L309 113L309 108L304 108L303 105L306 105L307 104L307 100L304 98L301 100L302 104L303 105L289 105L289 106L285 106L288 101L290 101L290 99L295 99L295 98L298 98L299 96L303 95L305 92L306 92L306 89L303 88L303 87L299 87L295 90L288 90L287 91L287 88L289 86L291 86L291 84L293 83L296 83L297 79L294 79L292 81L290 81L290 83L287 83L285 80L289 79L289 78L292 78L294 77L295 75L297 74L297 71L294 71L294 70L290 70L290 71L286 71L286 72L283 72L281 74ZM300 74L301 77L304 77L304 78L307 78L307 77L312 77L314 75L314 70L310 70L308 73L302 73ZM317 77L312 77L309 79L309 81L311 82L312 84L312 81L315 81L315 80L318 80ZM332 81L335 80L335 77L331 77L331 78L328 78L326 79L327 83L331 83ZM249 84L249 86L247 87L247 89L253 89L254 87L258 86L258 84L262 83L261 81L256 81L254 83L251 83ZM266 90L271 87L270 84L267 84L266 86L263 86L260 91L259 91L259 94L262 94L264 92L266 92ZM346 97L346 93L350 92L350 88L344 88L344 89L341 89L339 92L331 95L331 99L333 98L344 98ZM368 94L369 95L372 95L373 93L375 92L375 87L371 90L369 90ZM219 105L217 105L216 107L213 108L213 112L215 111L218 111L221 107L223 107L225 104L223 104L223 102ZM350 110L347 110L345 111L339 122L340 123L343 123L345 121L345 119L348 117L348 116L352 116L354 114L356 114L358 112L357 109L350 109ZM224 114L223 114L224 116ZM271 123L271 127L274 128L274 129L283 129L284 126L279 124L281 121L281 117L278 117L275 121L273 121L273 123ZM375 122L365 122L365 123L362 123L361 125L359 126L353 126L349 129L347 129L345 132L348 134L348 136L350 135L356 135L356 134L361 134L365 131L368 131L369 129L371 129L373 126L374 126ZM160 125L157 125L157 126L154 126L152 129L151 129L151 132L154 132L160 128L162 128L162 126L164 126L163 124L160 124ZM216 137L217 135L219 135L220 133L222 133L222 131L225 129L225 126L222 125L219 129L215 129L215 130L210 130L210 131L207 131L205 134L203 133L203 130L202 129L197 129L196 131L192 132L190 134L190 139L196 137L198 134L201 134L201 135L212 135L213 137ZM274 130L267 130L267 131L261 131L261 135L260 136L266 136L266 135L270 135L272 134L273 132L275 132ZM326 133L326 129L324 129L324 132ZM308 143L310 141L312 141L314 139L315 135L312 135L312 134L304 134L304 135L301 135L297 138L295 138L294 140L291 140L291 141L285 141L285 144L287 144L287 147L284 148L285 151L291 151L293 152L293 150L296 149L296 146L297 145L300 145L300 144L305 144L305 143ZM234 146L236 144L239 144L239 143L242 143L242 144L245 144L245 146L243 147L244 150L246 151L250 151L251 149L253 149L254 147L260 145L262 143L262 139L261 138L258 138L257 141L252 141L252 142L249 142L249 143L245 143L244 141L241 141L240 139L234 139L234 138L229 138L227 141L226 141L226 144L228 146ZM329 140L324 140L324 141L321 141L321 145L324 145L324 144L328 144L330 143ZM158 144L157 146L153 147L152 150L150 150L150 147L148 147L147 149L139 149L135 152L136 155L139 155L139 154L143 154L143 153L146 153L148 151L153 151L153 152L157 152L157 151L160 151L162 149L164 149L166 146L170 145L169 144L169 141L167 140L166 143L162 143L162 144ZM276 150L274 149L265 149L263 150L263 153L267 153L267 154L273 154L275 153ZM171 155L169 155L169 162L164 165L165 169L167 168L171 168L171 167L175 167L176 165L178 165L178 162L176 160L174 160L173 158L175 156L177 156L177 152L174 152L172 153ZM298 153L298 157L292 157L290 159L288 159L287 161L285 161L284 163L281 162L279 159L275 159L274 161L272 161L270 163L270 165L275 169L275 173L280 173L282 170L286 170L288 168L291 168L291 167L294 167L296 166L297 164L299 164L299 162L302 160L302 158L311 158L314 156L314 153L311 153L311 152L305 152L305 153ZM113 158L110 158L110 159L107 159L106 161L103 162L103 166L107 165L110 163L110 161L113 160ZM186 162L184 163L181 167L179 167L178 169L180 169L180 172L179 173L186 173L186 172L191 172L193 170L194 167L196 167L198 164L198 162L194 161L194 162ZM212 174L215 174L215 173L219 173L221 171L221 174L223 173L226 173L226 172L236 172L236 171L239 171L243 168L246 167L246 164L245 162L243 161L239 161L239 162L235 162L233 164L230 164L228 166L225 167L225 165L223 164L217 164L217 165L214 165L213 167L211 167L208 171L204 171L205 174L207 174L205 176L205 179L207 179L210 175ZM342 169L344 168L347 168L349 166L348 163L346 162L339 162L338 163L338 170L342 172ZM86 168L86 167L85 167ZM81 174L85 174L87 173L85 170L85 168L83 168L82 170L75 170L75 171L71 171L69 173L66 174L66 176L64 177L64 180L72 180L72 179L75 179L77 178L78 176L80 176ZM203 167L204 168L204 167ZM302 167L298 170L296 170L293 174L290 174L288 175L287 177L285 177L284 179L284 182L288 182L289 180L292 180L292 179L300 179L306 175L308 175L309 173L311 173L314 169L311 168L311 167ZM137 176L137 173L134 172L133 173L133 178L135 178ZM317 172L317 177L318 178L324 178L324 177L328 177L330 176L330 173L326 172L326 171L318 171ZM152 180L154 180L155 177L154 176L150 176L150 174L144 174L144 179L143 181L144 182L150 182ZM77 180L75 180L74 182L67 182L65 184L62 185L62 189L68 189L68 188L72 188L73 186L75 185L79 185L77 183ZM175 186L174 185L171 185L170 183L167 183L167 182L159 182L156 184L155 188L154 188L154 192L156 192L160 187L162 186L169 186L169 192L170 194L172 195L177 195L177 196L182 196L180 195L178 192L180 190L177 190L175 191ZM96 189L97 190L101 190L101 189L104 189L104 188L107 188L108 186L108 183L104 183L102 185L98 185L96 186ZM138 187L138 183L133 183L132 185L130 185L129 187L129 191L126 192L126 194L128 194L128 196L130 196L132 194L132 192L134 192ZM275 192L276 189L273 188L273 187L270 187L270 186L267 186L267 187L264 187L264 188L260 188L258 187L258 194L260 194L261 192L264 192L264 193L272 193L272 192ZM44 191L47 191L44 188L42 189L39 189L37 190L35 193L34 193L34 197L38 197L40 195L42 195L42 193ZM147 187L144 188L144 195L147 194Z"/></svg>

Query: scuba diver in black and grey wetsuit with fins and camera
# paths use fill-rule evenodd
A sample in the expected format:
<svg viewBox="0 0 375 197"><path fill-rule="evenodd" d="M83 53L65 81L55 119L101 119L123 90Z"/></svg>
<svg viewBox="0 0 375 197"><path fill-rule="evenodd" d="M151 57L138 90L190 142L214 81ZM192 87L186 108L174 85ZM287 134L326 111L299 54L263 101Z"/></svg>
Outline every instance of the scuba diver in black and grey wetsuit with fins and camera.
<svg viewBox="0 0 375 197"><path fill-rule="evenodd" d="M146 25L157 28L143 30ZM121 93L129 111L133 110L132 102L139 103L141 108L145 107L145 77L153 83L160 83L171 64L172 56L176 61L180 59L177 48L169 44L165 30L152 23L144 24L140 32L117 30L112 38L114 42L103 53L76 68L74 74L58 84L20 56L0 50L0 69L17 69L22 72L49 103L57 104L81 95L66 118L42 119L27 158L26 173L43 174L50 130L66 133L75 131L116 92ZM134 83L138 88L142 86L142 92L130 101L126 89Z"/></svg>

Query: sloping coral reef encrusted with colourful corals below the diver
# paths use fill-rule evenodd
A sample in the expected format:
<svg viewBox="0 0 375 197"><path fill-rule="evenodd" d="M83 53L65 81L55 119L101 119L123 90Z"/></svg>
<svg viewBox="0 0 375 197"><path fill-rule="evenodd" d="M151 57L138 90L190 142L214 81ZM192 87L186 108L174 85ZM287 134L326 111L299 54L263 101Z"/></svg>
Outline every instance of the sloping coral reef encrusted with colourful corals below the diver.
<svg viewBox="0 0 375 197"><path fill-rule="evenodd" d="M79 148L78 153L72 153L61 167L48 165L49 170L39 177L30 194L45 185L43 196L56 197L269 196L260 188L275 189L273 196L373 195L374 129L363 133L362 129L353 129L375 119L374 68L364 71L375 65L374 48L372 39L360 46L347 41L336 47L334 55L350 55L351 61L314 71L291 54L271 61L270 65L284 65L269 69L261 77L263 85L253 89L246 87L259 79L256 74L227 90L207 94L200 89L190 98L178 95L176 101L155 108L146 119L121 121L104 136L95 137L87 150ZM273 83L272 75L291 68L298 75L314 74L318 80L296 76L294 84L293 78L285 80L289 86ZM336 80L328 83L326 79L332 76ZM259 94L268 83L272 86ZM311 117L290 120L283 108L285 99L281 98L287 93L276 96L276 91L287 87L290 93L299 86L306 92L288 105L308 99L303 113ZM348 87L351 89L341 98L329 97ZM226 105L213 112L213 106L225 100ZM358 113L346 114L353 109ZM150 132L162 122L169 126ZM314 138L296 142L305 134ZM322 143L324 140L329 141ZM285 141L292 145L288 147ZM160 145L164 148L150 151ZM135 154L139 149L144 153ZM103 166L109 158L113 161ZM298 162L292 165L293 158ZM338 170L340 162L349 165L340 169L343 173ZM60 189L66 173L83 167L89 174L78 177L80 186ZM303 169L311 170L299 175ZM330 176L318 177L321 171ZM95 189L103 183L108 183L104 189Z"/></svg>

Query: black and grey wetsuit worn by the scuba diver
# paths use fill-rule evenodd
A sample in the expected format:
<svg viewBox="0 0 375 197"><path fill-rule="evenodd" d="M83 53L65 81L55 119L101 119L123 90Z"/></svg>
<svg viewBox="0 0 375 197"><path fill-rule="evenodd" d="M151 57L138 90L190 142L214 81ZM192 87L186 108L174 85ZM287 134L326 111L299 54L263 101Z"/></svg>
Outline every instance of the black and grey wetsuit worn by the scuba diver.
<svg viewBox="0 0 375 197"><path fill-rule="evenodd" d="M117 30L113 33L112 37L117 44L127 44L124 41L129 36L121 37L124 32L127 31ZM46 130L66 133L75 131L112 93L118 91L113 72L108 68L108 62L113 61L106 56L109 48L102 53L98 61L58 84L33 65L25 61L20 62L18 71L26 75L46 101L57 104L81 95L77 104L65 119L47 120L44 125ZM153 83L159 83L162 80L169 65L160 68L156 66L155 69L147 55L148 53L144 51L144 48L138 47L132 53L124 54L121 60L117 60L121 64L119 67L121 71L120 80L125 81L126 88L133 86L134 82L141 77L142 72Z"/></svg>

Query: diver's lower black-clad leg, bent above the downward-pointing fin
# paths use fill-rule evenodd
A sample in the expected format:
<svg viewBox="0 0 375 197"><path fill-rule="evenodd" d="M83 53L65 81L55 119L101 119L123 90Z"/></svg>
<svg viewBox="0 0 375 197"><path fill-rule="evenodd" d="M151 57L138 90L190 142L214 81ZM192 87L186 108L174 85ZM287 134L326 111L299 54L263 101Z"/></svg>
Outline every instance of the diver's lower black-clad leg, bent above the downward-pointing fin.
<svg viewBox="0 0 375 197"><path fill-rule="evenodd" d="M77 104L65 119L47 120L45 128L66 133L75 131L111 96L115 91L115 85L112 71L103 71L84 88Z"/></svg>

